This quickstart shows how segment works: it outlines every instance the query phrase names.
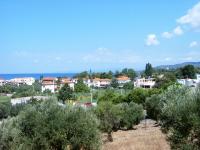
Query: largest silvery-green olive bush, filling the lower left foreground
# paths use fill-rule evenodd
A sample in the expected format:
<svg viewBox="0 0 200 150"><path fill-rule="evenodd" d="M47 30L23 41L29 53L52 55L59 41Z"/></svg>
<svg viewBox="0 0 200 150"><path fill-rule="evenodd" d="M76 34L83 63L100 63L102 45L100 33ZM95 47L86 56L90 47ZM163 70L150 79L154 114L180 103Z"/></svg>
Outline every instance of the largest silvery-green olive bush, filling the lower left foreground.
<svg viewBox="0 0 200 150"><path fill-rule="evenodd" d="M56 101L29 105L0 128L1 149L99 149L98 121L81 108Z"/></svg>

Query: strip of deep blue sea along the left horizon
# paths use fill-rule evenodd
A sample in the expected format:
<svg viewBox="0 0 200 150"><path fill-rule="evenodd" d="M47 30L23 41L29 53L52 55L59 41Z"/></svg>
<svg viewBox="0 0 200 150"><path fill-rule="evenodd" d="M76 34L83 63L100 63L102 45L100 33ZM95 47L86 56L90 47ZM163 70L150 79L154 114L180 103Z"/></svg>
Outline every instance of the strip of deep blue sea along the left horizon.
<svg viewBox="0 0 200 150"><path fill-rule="evenodd" d="M22 74L0 74L0 78L10 80L13 78L33 77L40 79L41 77L74 77L77 73L22 73Z"/></svg>

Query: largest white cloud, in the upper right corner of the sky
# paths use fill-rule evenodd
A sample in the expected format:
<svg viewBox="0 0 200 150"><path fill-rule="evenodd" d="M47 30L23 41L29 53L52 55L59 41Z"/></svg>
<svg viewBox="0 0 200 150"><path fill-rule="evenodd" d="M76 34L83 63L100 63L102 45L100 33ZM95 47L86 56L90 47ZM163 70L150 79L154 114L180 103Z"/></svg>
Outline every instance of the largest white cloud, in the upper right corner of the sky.
<svg viewBox="0 0 200 150"><path fill-rule="evenodd" d="M192 9L189 9L187 14L177 20L180 24L188 24L194 28L200 27L200 2Z"/></svg>

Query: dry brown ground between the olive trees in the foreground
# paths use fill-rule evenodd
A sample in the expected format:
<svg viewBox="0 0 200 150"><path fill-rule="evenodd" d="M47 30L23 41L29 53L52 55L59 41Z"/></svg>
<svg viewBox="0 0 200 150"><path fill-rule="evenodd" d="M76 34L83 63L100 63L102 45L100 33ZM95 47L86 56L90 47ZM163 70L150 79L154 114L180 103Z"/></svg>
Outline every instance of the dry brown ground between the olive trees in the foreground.
<svg viewBox="0 0 200 150"><path fill-rule="evenodd" d="M147 120L137 125L136 130L114 132L113 142L103 145L103 150L170 150L166 136L155 126L155 121Z"/></svg>

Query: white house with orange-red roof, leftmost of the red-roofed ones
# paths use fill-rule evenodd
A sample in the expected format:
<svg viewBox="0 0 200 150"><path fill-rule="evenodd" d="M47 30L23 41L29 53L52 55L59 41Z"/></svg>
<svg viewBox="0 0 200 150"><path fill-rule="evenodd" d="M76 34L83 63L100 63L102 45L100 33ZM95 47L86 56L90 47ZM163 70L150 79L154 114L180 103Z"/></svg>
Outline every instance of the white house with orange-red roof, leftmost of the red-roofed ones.
<svg viewBox="0 0 200 150"><path fill-rule="evenodd" d="M45 90L50 90L52 93L55 93L57 89L57 78L45 77L42 79L42 92Z"/></svg>

